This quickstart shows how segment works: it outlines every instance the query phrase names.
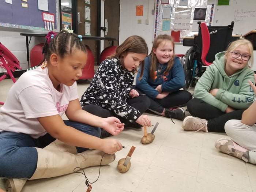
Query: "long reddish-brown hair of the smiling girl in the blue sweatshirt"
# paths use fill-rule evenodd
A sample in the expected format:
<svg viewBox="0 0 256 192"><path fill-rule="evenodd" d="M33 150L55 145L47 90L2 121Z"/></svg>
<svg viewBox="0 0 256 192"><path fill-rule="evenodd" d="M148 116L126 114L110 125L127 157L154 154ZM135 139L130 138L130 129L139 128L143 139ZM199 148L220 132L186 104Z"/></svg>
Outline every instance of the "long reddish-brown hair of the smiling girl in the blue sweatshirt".
<svg viewBox="0 0 256 192"><path fill-rule="evenodd" d="M174 40L170 35L157 35L157 37L154 39L154 43L150 52L150 55L152 57L151 59L151 66L150 66L150 78L151 79L155 79L155 71L157 68L157 64L158 64L158 60L157 60L157 56L155 55L155 53L153 52L155 49L158 48L159 44L161 44L162 42L166 42L166 41L171 41L173 44L173 56L171 58L170 61L168 61L167 64L167 68L165 70L165 73L169 72L171 70L171 68L173 67L174 64L174 58L175 58L175 53L174 53Z"/></svg>

